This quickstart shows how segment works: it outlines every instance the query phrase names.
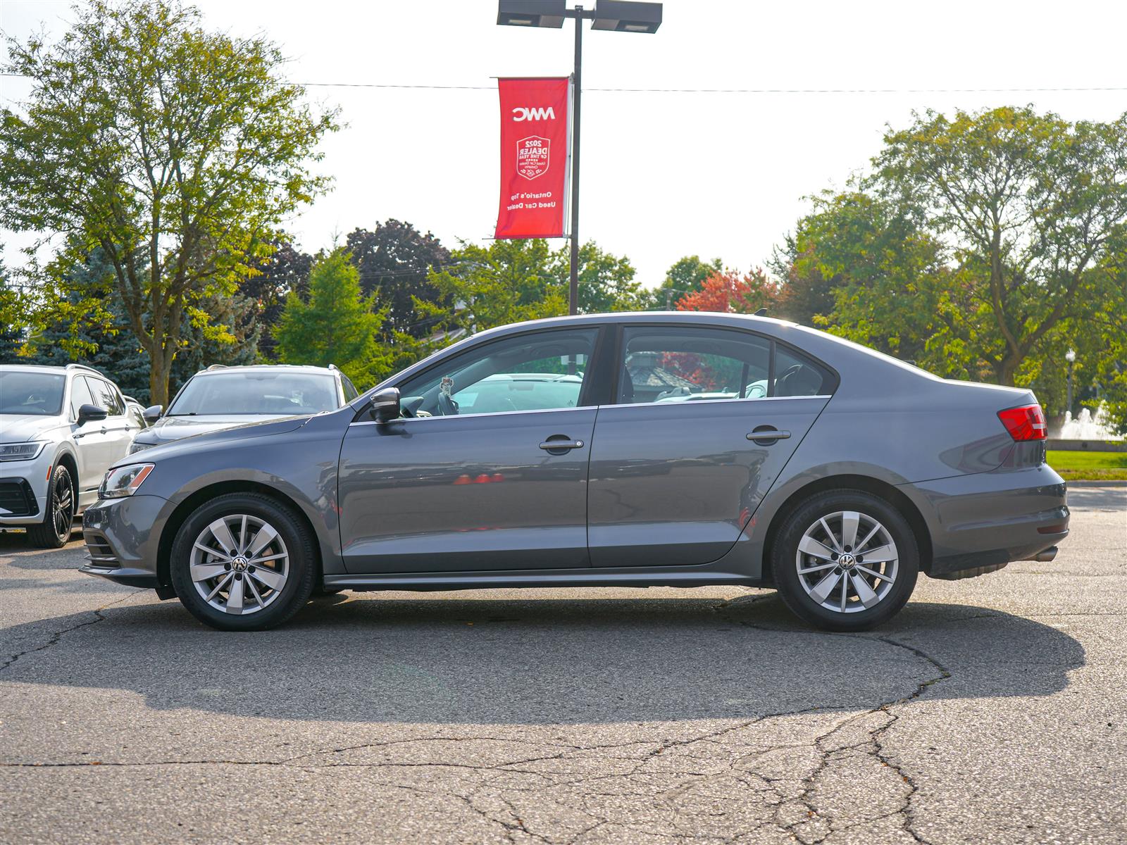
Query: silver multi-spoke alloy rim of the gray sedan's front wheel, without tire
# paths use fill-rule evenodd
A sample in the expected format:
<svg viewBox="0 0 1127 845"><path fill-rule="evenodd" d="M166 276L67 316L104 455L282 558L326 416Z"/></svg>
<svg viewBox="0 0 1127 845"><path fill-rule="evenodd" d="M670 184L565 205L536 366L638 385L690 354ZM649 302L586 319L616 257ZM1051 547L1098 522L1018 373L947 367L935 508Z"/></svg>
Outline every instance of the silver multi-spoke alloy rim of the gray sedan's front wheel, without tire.
<svg viewBox="0 0 1127 845"><path fill-rule="evenodd" d="M212 607L247 615L282 595L290 553L273 525L249 514L231 514L199 532L192 544L189 575Z"/></svg>

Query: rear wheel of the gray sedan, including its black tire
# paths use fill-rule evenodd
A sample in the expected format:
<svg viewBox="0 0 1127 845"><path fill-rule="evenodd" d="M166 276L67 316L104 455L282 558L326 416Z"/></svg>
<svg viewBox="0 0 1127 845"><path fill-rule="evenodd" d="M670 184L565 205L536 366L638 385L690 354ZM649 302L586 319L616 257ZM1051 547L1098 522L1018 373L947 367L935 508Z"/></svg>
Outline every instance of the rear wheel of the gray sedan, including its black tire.
<svg viewBox="0 0 1127 845"><path fill-rule="evenodd" d="M872 552L868 560L867 552ZM867 631L907 603L920 573L920 549L907 519L885 499L831 490L811 496L783 521L771 571L783 603L804 622L825 631Z"/></svg>

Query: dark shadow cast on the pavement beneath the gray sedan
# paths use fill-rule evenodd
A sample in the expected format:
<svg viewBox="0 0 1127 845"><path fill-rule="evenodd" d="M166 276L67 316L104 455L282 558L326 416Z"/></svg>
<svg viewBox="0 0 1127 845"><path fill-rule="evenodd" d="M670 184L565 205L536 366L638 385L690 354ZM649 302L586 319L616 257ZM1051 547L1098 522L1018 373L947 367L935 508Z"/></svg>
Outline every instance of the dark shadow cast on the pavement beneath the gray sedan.
<svg viewBox="0 0 1127 845"><path fill-rule="evenodd" d="M961 604L912 603L877 631L829 634L797 624L773 594L385 595L318 599L258 633L213 631L176 602L107 607L96 623L89 612L43 620L0 632L55 640L0 681L119 690L157 710L550 724L870 709L922 691L1050 695L1084 664L1063 631Z"/></svg>

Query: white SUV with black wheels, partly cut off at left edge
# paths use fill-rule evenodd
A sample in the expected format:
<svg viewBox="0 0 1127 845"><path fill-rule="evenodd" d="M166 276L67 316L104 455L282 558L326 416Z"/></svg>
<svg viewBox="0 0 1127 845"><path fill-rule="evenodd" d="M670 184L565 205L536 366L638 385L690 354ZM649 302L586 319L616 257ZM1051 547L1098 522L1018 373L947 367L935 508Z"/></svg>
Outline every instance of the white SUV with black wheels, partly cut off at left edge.
<svg viewBox="0 0 1127 845"><path fill-rule="evenodd" d="M0 526L57 549L141 428L97 370L0 366Z"/></svg>

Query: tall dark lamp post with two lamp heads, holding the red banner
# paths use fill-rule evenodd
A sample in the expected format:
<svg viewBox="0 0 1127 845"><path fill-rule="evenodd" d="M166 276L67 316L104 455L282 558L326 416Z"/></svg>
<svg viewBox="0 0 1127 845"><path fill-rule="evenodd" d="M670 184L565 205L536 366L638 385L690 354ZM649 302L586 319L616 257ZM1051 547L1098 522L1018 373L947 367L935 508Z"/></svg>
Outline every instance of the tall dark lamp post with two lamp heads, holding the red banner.
<svg viewBox="0 0 1127 845"><path fill-rule="evenodd" d="M571 281L568 312L579 313L579 117L583 97L583 21L592 29L616 33L656 33L662 25L662 3L636 0L596 0L594 9L565 0L498 0L499 26L538 26L559 29L564 18L575 19L575 71L571 75Z"/></svg>

